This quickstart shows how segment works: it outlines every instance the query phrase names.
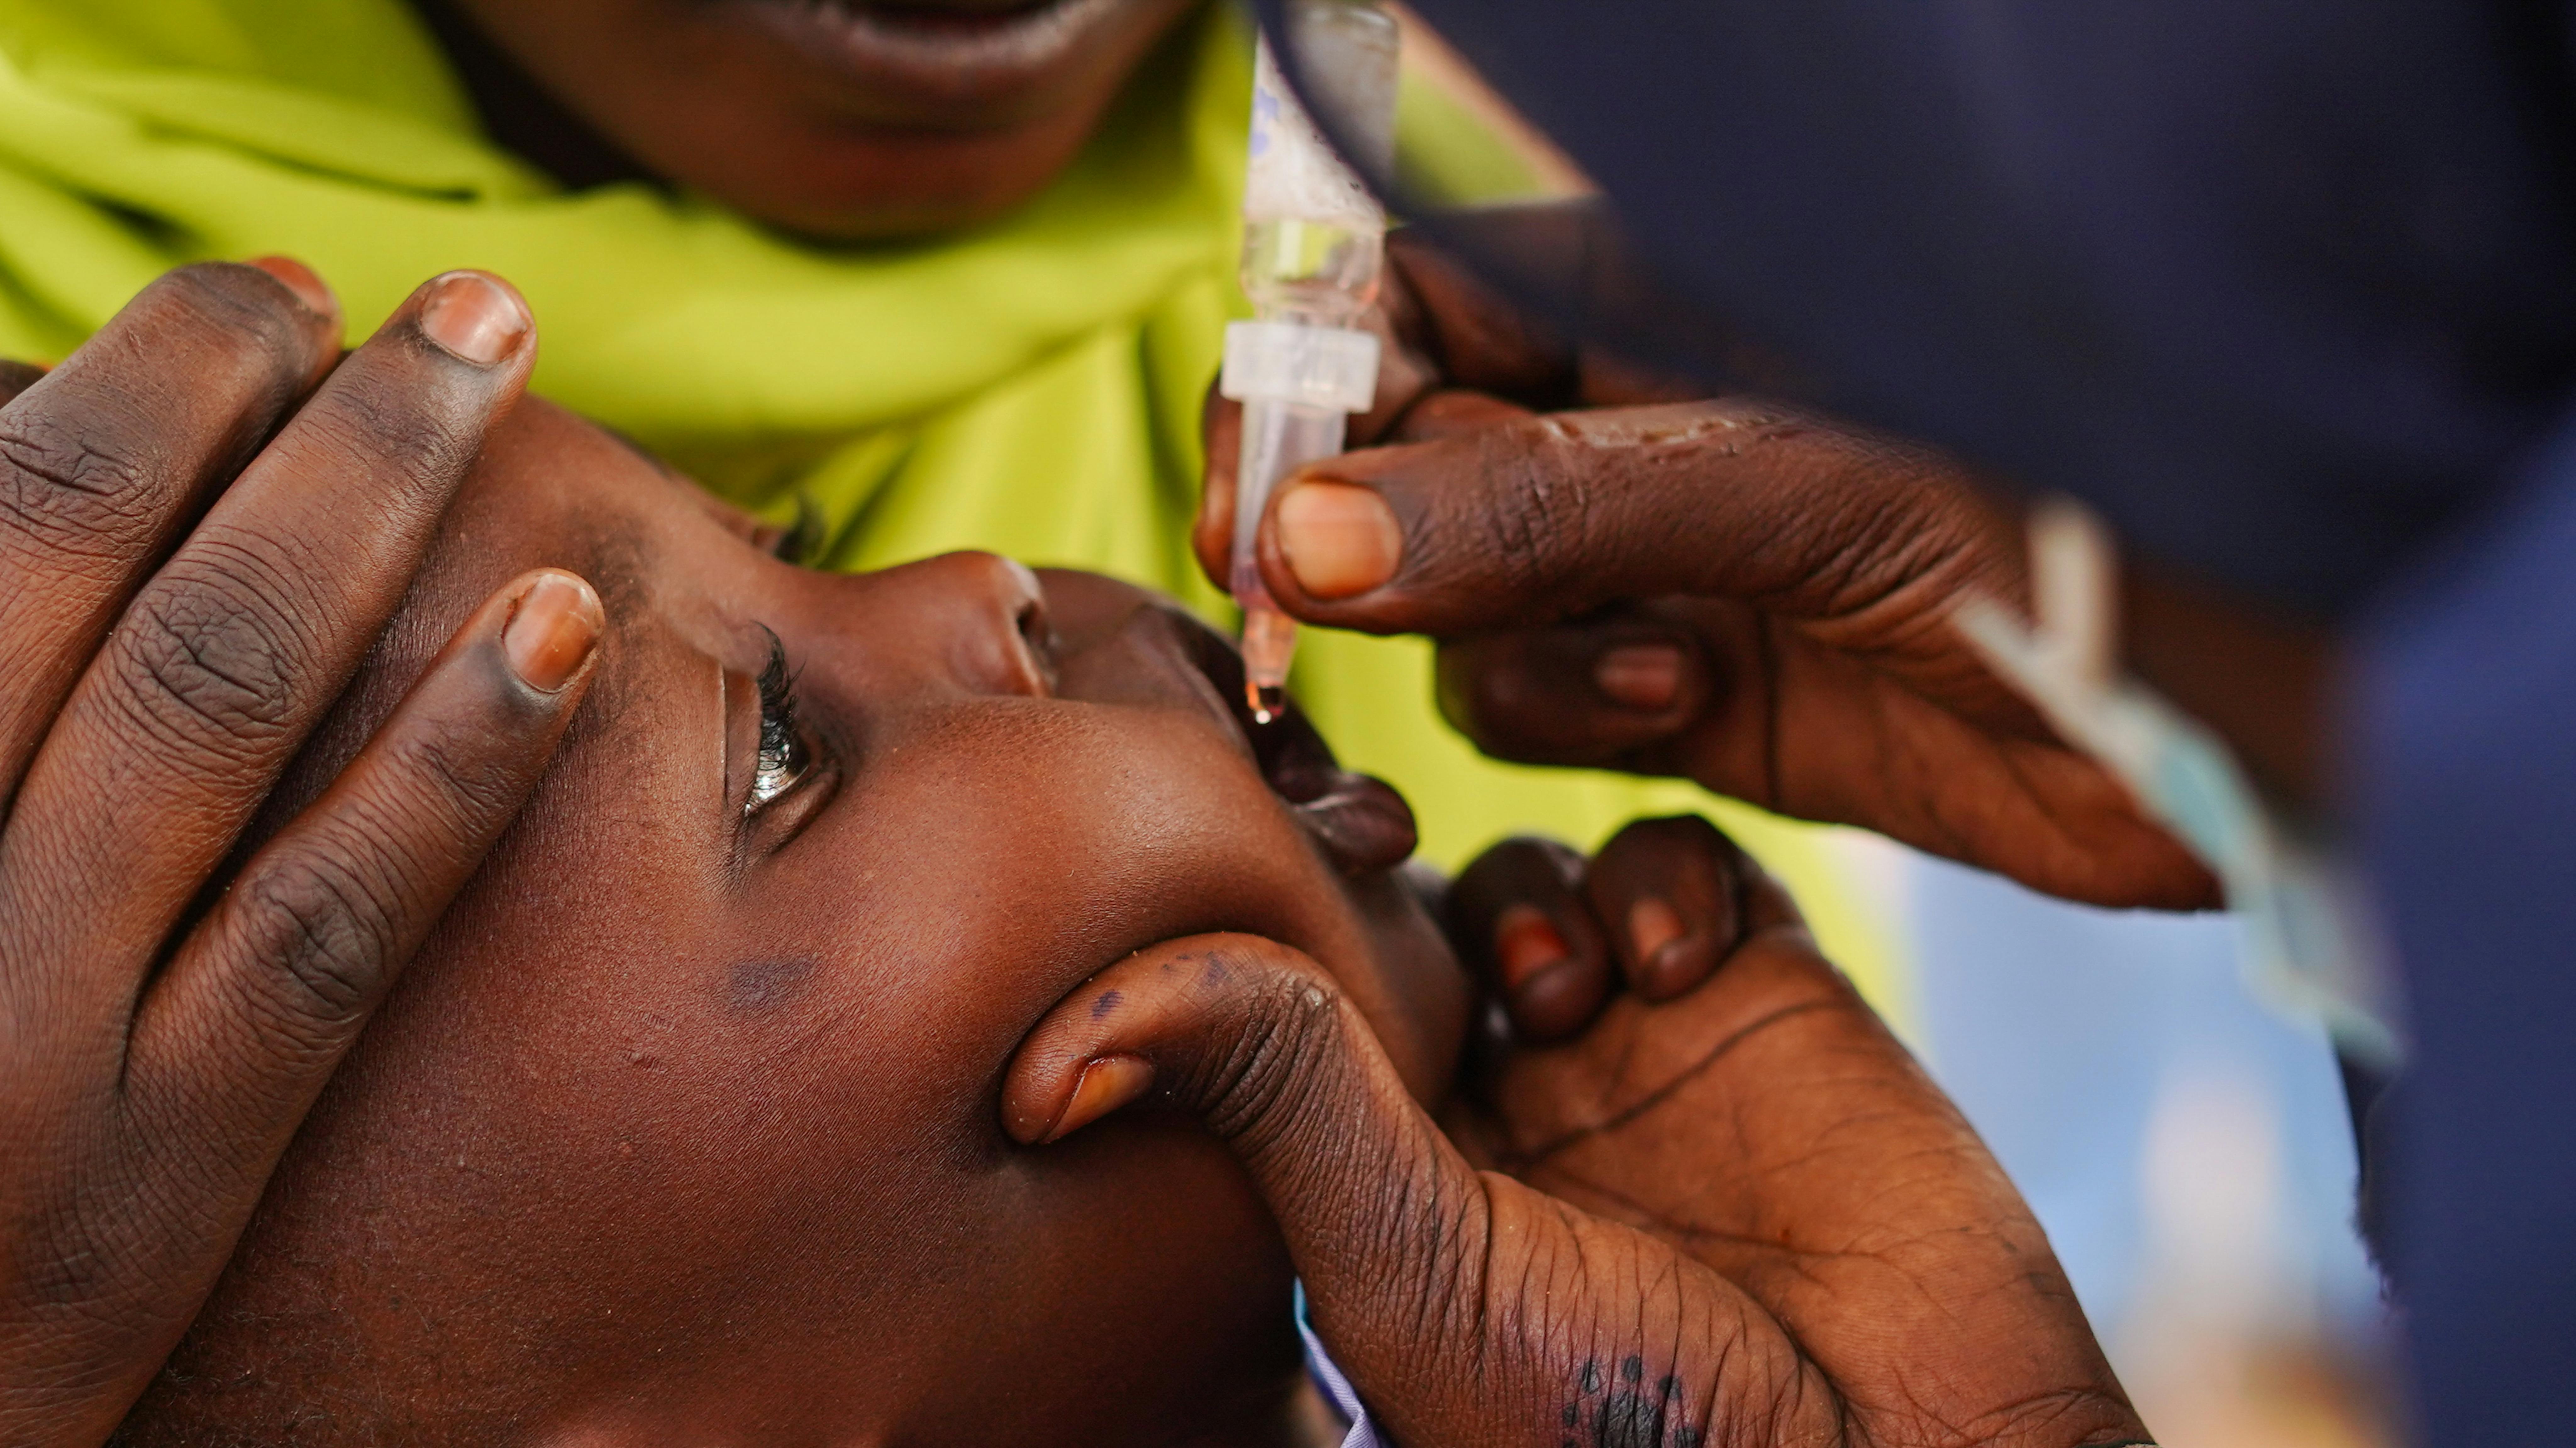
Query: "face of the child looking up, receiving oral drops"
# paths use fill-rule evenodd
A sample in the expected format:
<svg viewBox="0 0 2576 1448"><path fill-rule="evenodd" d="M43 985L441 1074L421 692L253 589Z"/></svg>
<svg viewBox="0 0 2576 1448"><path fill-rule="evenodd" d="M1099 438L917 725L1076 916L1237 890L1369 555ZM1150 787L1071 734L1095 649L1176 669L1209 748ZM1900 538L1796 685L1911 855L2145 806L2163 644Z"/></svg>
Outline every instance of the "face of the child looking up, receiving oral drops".
<svg viewBox="0 0 2576 1448"><path fill-rule="evenodd" d="M1275 1417L1288 1262L1224 1149L1151 1113L1018 1149L997 1082L1110 961L1252 930L1340 971L1432 1092L1463 989L1394 871L1404 806L1301 742L1267 773L1309 804L1283 799L1231 652L1139 590L762 544L562 412L495 435L314 757L533 564L600 585L598 685L137 1425L981 1445Z"/></svg>

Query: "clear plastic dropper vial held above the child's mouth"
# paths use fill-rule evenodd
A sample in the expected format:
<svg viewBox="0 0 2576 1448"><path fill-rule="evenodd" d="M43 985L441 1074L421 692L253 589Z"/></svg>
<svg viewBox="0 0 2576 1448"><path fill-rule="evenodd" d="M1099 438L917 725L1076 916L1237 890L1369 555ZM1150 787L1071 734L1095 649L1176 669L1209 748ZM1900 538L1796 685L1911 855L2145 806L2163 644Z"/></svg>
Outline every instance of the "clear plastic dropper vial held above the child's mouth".
<svg viewBox="0 0 2576 1448"><path fill-rule="evenodd" d="M1396 23L1368 0L1288 5L1291 44L1363 162L1394 155ZM1378 299L1386 211L1332 152L1262 41L1252 75L1244 178L1244 294L1252 322L1226 327L1218 392L1244 405L1234 472L1234 567L1244 608L1252 716L1278 716L1296 621L1278 611L1252 544L1278 479L1342 451L1342 428L1378 392L1378 338L1358 327Z"/></svg>

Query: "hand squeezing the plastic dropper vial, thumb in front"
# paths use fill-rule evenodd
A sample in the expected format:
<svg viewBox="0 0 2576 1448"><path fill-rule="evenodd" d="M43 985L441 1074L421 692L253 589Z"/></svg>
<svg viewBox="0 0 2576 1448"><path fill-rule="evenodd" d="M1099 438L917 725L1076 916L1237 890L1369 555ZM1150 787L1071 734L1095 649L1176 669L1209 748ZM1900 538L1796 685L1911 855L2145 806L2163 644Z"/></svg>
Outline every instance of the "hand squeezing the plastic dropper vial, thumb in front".
<svg viewBox="0 0 2576 1448"><path fill-rule="evenodd" d="M1556 345L1425 247L1391 258L1394 366L1352 420L1370 446L1283 484L1262 526L1288 613L1440 639L1443 711L1499 757L1685 776L2066 899L2218 902L1950 629L1971 593L2027 598L2017 515L1986 479L1801 407L1682 399ZM1234 420L1211 402L1211 577ZM2138 667L2313 806L2324 634L2151 569L2125 569L2123 608Z"/></svg>

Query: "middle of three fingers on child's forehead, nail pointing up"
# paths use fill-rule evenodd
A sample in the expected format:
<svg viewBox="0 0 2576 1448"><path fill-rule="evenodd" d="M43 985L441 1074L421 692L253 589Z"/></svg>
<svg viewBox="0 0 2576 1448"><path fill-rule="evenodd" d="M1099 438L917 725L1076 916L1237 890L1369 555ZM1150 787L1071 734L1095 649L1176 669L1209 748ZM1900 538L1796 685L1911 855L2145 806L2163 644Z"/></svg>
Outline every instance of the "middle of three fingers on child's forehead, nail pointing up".
<svg viewBox="0 0 2576 1448"><path fill-rule="evenodd" d="M59 1028L121 1041L137 971L376 642L533 350L505 283L430 281L134 595L0 837L0 917L85 943L23 966Z"/></svg>

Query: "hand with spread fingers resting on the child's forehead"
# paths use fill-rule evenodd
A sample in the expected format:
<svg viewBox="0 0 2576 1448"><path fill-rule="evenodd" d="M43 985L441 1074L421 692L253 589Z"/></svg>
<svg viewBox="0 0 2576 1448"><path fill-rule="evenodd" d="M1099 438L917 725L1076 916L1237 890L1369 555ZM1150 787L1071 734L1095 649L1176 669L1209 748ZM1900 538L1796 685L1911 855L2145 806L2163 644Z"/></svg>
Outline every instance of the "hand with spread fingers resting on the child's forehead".
<svg viewBox="0 0 2576 1448"><path fill-rule="evenodd" d="M513 580L232 863L533 353L515 291L448 273L343 361L276 260L178 271L0 376L8 1443L116 1427L582 696L598 598Z"/></svg>

